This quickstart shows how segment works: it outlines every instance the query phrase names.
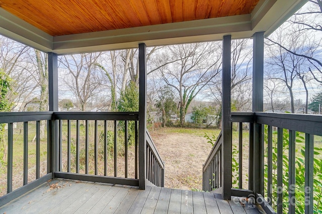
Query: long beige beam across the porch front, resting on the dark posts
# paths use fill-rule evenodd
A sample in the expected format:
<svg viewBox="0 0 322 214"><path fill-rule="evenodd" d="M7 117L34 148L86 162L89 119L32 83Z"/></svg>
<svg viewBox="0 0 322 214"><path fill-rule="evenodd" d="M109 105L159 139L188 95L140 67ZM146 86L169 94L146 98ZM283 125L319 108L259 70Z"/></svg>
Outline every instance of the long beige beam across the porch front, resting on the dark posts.
<svg viewBox="0 0 322 214"><path fill-rule="evenodd" d="M58 54L147 46L214 41L225 34L251 37L251 15L194 20L179 23L56 36L53 51ZM248 32L245 34L245 32ZM241 33L241 34L240 34Z"/></svg>

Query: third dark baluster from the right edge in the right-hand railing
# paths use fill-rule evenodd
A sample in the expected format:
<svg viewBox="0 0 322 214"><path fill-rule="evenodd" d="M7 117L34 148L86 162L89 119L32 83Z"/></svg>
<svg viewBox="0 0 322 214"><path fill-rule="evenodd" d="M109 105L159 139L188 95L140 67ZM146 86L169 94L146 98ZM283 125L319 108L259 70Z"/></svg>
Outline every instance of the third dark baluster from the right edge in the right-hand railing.
<svg viewBox="0 0 322 214"><path fill-rule="evenodd" d="M283 213L283 128L277 129L277 213Z"/></svg>

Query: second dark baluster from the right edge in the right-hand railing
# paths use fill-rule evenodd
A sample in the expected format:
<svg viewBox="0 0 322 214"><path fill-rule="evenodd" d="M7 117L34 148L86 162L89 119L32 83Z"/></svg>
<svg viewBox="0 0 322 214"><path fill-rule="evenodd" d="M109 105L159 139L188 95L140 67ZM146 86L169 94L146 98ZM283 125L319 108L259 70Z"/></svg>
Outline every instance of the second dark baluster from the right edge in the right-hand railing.
<svg viewBox="0 0 322 214"><path fill-rule="evenodd" d="M295 213L295 131L289 130L288 212Z"/></svg>

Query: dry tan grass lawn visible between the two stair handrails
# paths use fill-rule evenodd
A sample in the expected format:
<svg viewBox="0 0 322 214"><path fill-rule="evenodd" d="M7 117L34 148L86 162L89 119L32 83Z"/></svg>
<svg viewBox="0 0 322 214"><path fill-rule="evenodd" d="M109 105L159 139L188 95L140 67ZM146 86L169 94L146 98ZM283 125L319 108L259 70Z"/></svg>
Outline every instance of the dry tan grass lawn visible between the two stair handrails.
<svg viewBox="0 0 322 214"><path fill-rule="evenodd" d="M211 145L204 137L219 130L159 128L151 131L156 148L165 162L165 186L178 189L202 189L202 165Z"/></svg>

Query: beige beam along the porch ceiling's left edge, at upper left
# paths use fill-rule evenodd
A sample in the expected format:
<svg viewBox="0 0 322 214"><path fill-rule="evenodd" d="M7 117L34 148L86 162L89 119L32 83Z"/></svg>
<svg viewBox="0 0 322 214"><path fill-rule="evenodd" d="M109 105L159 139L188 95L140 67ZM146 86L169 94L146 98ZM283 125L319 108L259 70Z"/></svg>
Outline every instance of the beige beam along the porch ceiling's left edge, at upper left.
<svg viewBox="0 0 322 214"><path fill-rule="evenodd" d="M30 47L50 52L53 37L0 8L0 34Z"/></svg>

